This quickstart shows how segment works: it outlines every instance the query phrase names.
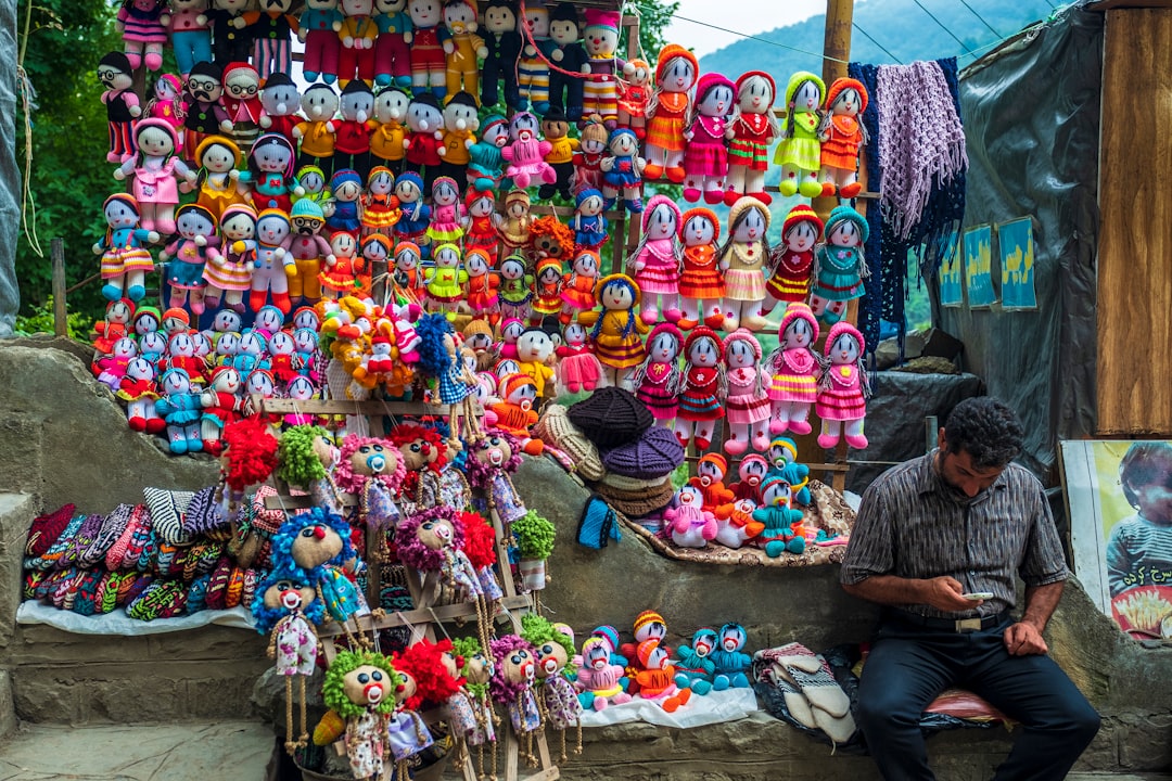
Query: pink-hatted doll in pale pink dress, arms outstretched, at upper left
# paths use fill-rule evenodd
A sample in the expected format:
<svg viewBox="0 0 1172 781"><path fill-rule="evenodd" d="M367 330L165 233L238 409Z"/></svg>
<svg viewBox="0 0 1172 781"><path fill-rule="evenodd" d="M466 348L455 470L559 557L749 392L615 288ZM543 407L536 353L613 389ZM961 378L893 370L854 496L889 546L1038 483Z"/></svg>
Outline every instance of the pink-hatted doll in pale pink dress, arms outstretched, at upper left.
<svg viewBox="0 0 1172 781"><path fill-rule="evenodd" d="M176 155L179 138L165 119L139 119L135 146L135 153L114 171L114 178L131 178L130 194L138 201L143 228L163 235L175 233L175 207L179 203L176 177L193 183L196 172Z"/></svg>

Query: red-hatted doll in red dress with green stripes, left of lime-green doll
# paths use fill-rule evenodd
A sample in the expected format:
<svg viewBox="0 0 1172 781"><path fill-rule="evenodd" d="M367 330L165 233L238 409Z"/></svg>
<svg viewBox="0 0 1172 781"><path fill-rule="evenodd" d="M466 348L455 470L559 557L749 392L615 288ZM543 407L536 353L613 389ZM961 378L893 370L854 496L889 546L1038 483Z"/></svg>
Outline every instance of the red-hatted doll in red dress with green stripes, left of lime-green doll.
<svg viewBox="0 0 1172 781"><path fill-rule="evenodd" d="M729 183L724 204L732 206L741 196L752 196L769 206L765 192L769 146L781 135L774 118L777 84L764 70L750 70L736 80L736 114L730 124Z"/></svg>

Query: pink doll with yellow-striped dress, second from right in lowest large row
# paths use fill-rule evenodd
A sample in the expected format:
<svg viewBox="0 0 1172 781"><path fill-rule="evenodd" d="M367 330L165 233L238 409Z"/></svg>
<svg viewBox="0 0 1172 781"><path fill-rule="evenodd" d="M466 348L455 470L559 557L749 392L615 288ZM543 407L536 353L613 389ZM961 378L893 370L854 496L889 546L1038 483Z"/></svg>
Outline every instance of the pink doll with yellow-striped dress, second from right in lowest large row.
<svg viewBox="0 0 1172 781"><path fill-rule="evenodd" d="M765 361L774 379L769 386L772 420L769 433L786 431L810 433L810 407L818 398L822 365L813 343L818 341L818 318L810 307L795 301L785 308L777 328L777 349Z"/></svg>

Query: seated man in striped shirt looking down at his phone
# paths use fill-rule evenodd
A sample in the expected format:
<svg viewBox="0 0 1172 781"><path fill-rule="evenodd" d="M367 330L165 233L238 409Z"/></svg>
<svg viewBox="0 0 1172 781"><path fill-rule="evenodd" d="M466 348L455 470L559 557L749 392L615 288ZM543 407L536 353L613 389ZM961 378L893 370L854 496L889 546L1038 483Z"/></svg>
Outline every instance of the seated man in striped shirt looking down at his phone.
<svg viewBox="0 0 1172 781"><path fill-rule="evenodd" d="M1069 570L1041 484L1009 463L1021 444L1009 407L966 399L936 450L863 495L840 577L847 594L884 605L858 724L885 779L934 777L919 721L948 686L1022 724L997 781L1064 779L1098 732L1098 713L1042 639ZM1026 607L1014 618L1018 574Z"/></svg>

